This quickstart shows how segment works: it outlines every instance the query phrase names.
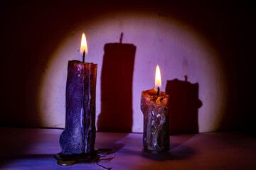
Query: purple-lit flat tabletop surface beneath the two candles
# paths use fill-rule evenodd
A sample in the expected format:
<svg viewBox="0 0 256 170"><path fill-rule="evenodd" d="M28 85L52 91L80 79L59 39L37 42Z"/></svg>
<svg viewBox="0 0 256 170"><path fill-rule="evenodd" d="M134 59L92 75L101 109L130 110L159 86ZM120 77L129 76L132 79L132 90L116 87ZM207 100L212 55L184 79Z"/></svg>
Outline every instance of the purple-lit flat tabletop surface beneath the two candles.
<svg viewBox="0 0 256 170"><path fill-rule="evenodd" d="M0 128L0 169L102 169L96 164L56 164L63 130ZM256 138L239 131L171 135L169 152L142 152L142 134L97 132L95 148L114 149L99 164L114 169L256 169Z"/></svg>

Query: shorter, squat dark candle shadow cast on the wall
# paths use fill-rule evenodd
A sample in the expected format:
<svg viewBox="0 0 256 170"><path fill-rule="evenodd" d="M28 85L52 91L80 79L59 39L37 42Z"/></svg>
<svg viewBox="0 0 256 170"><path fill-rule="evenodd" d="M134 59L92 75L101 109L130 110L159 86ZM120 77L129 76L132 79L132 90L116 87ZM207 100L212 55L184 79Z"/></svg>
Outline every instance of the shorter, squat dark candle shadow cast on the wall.
<svg viewBox="0 0 256 170"><path fill-rule="evenodd" d="M202 102L198 98L198 83L191 84L178 79L169 80L166 94L170 96L169 133L198 133L198 108Z"/></svg>

